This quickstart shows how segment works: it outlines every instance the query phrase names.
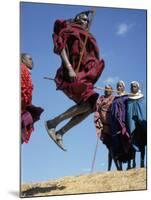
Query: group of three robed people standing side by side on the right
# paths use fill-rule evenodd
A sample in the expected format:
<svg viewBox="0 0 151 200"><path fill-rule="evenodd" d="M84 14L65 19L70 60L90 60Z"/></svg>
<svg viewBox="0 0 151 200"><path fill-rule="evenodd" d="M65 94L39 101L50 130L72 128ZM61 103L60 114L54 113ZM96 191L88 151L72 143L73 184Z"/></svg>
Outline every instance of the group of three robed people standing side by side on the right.
<svg viewBox="0 0 151 200"><path fill-rule="evenodd" d="M131 82L130 93L125 92L123 81L117 83L116 89L117 95L113 96L112 86L105 86L104 95L96 103L94 123L97 136L107 146L112 158L127 162L133 160L135 152L141 152L146 145L143 94L137 81ZM120 169L121 166L115 164ZM144 166L143 160L141 166Z"/></svg>

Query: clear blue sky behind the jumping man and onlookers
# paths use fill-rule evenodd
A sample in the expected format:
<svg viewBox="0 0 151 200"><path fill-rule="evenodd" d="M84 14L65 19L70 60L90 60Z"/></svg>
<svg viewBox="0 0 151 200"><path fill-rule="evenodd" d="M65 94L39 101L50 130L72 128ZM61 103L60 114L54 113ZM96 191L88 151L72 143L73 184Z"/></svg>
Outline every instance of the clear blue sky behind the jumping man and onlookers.
<svg viewBox="0 0 151 200"><path fill-rule="evenodd" d="M47 135L44 122L64 112L74 102L61 91L56 91L52 81L43 79L44 76L53 78L60 66L59 56L53 53L54 21L72 18L88 9L91 8L21 3L20 51L28 52L33 57L33 104L45 109L41 120L35 124L30 142L21 146L22 182L45 181L90 172L96 145L93 115L66 133L64 144L68 151L61 151ZM115 88L116 82L122 79L129 91L130 82L137 80L146 96L146 11L97 7L91 33L105 60L105 69L96 85L103 87L110 83ZM103 94L102 91L98 92ZM107 150L100 142L94 172L106 169Z"/></svg>

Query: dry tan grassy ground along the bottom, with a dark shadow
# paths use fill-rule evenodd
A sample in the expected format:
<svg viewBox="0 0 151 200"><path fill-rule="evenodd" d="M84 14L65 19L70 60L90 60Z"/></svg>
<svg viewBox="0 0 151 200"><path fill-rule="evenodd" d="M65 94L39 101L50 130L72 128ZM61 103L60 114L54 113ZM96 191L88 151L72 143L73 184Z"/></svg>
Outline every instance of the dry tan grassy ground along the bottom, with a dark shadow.
<svg viewBox="0 0 151 200"><path fill-rule="evenodd" d="M47 182L23 184L21 197L97 193L146 189L146 169L98 172L63 177Z"/></svg>

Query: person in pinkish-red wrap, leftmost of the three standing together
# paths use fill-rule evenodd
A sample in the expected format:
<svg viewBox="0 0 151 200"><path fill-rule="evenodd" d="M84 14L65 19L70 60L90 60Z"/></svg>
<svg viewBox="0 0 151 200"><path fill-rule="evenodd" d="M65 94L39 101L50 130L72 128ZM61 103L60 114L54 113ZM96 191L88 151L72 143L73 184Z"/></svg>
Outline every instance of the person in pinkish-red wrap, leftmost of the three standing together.
<svg viewBox="0 0 151 200"><path fill-rule="evenodd" d="M111 170L112 164L112 134L111 134L111 107L114 100L112 95L113 89L111 85L106 85L104 95L100 96L96 102L96 112L94 113L94 123L96 127L97 137L108 148L108 171ZM115 165L118 165L115 162Z"/></svg>

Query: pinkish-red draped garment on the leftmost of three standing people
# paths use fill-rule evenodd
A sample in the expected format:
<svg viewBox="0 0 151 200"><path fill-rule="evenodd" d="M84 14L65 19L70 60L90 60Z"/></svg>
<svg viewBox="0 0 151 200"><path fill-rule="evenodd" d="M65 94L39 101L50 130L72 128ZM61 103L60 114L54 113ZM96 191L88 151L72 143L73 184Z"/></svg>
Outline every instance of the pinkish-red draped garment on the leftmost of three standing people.
<svg viewBox="0 0 151 200"><path fill-rule="evenodd" d="M114 96L105 97L100 96L96 102L96 112L94 113L94 123L96 127L97 136L104 144L110 145L111 140L111 119L110 112ZM98 126L98 120L102 123L102 129Z"/></svg>

